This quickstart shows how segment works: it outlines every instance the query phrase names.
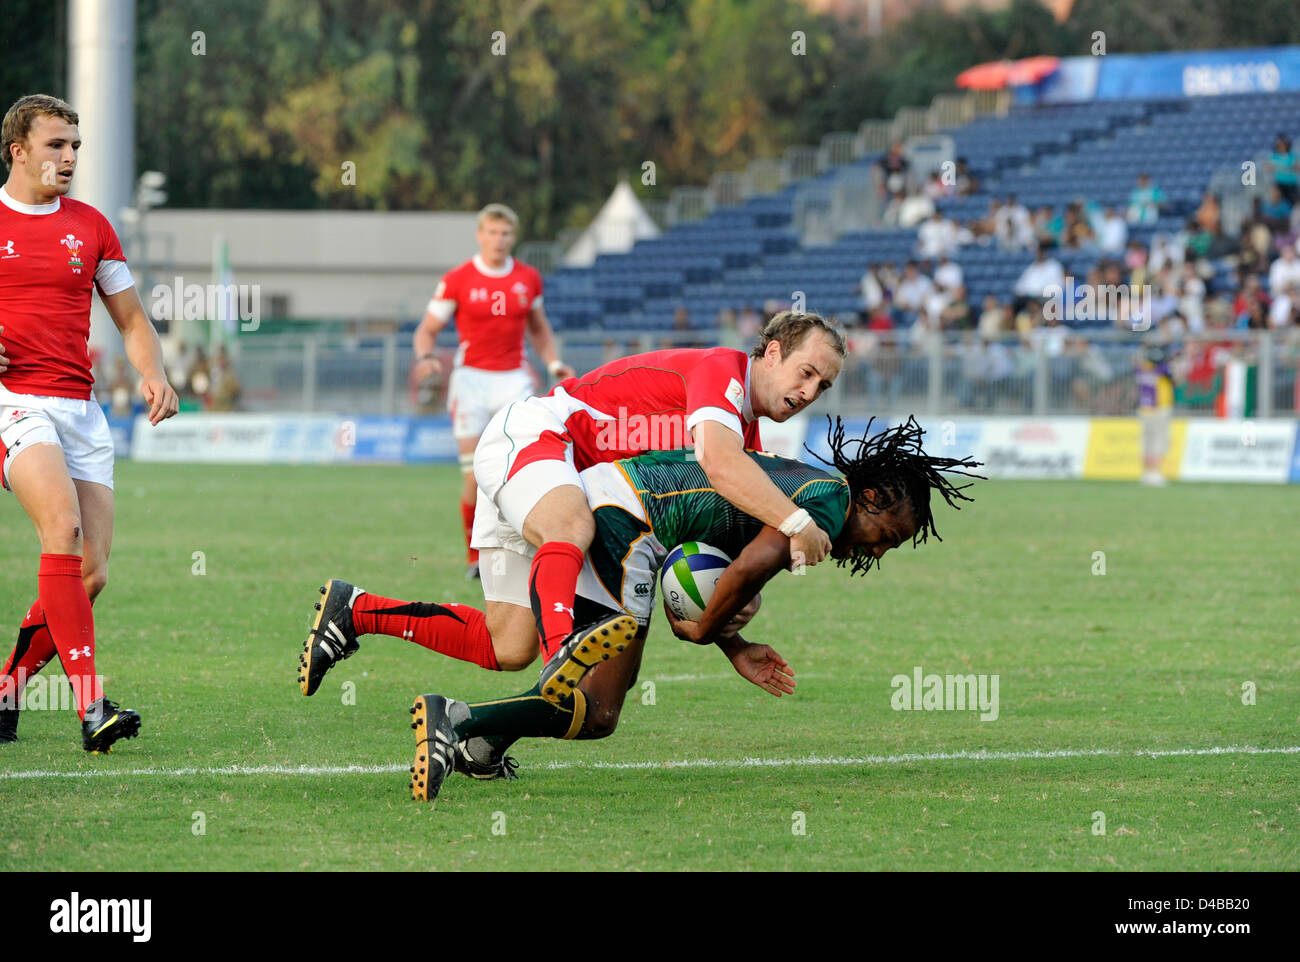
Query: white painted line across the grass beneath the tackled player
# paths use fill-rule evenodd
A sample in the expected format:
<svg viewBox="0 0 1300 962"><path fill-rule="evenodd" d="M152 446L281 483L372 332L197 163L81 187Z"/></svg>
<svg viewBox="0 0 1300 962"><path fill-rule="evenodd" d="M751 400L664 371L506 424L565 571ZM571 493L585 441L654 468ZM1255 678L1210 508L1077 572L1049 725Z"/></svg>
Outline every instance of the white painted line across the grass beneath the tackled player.
<svg viewBox="0 0 1300 962"><path fill-rule="evenodd" d="M1209 749L1053 749L1049 751L927 751L904 755L833 755L823 758L688 758L680 762L549 762L538 768L592 768L606 771L650 768L797 768L797 767L863 767L878 764L909 764L913 762L1018 762L1053 758L1180 758L1193 755L1295 755L1300 745L1258 749L1251 745L1226 745ZM18 771L0 772L0 781L16 779L110 779L117 776L186 777L192 775L390 775L407 771L406 764L229 764L211 768L121 768L117 771Z"/></svg>

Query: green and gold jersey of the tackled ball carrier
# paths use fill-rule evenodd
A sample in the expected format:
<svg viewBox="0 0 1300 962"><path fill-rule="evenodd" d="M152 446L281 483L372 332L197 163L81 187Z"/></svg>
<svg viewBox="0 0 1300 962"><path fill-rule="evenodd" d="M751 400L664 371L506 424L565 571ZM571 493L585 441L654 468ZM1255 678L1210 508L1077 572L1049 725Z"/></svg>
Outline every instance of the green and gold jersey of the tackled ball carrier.
<svg viewBox="0 0 1300 962"><path fill-rule="evenodd" d="M802 462L746 451L798 507L835 541L849 516L849 484ZM702 541L732 558L763 524L723 498L692 451L651 451L618 462L636 490L655 538L664 547Z"/></svg>

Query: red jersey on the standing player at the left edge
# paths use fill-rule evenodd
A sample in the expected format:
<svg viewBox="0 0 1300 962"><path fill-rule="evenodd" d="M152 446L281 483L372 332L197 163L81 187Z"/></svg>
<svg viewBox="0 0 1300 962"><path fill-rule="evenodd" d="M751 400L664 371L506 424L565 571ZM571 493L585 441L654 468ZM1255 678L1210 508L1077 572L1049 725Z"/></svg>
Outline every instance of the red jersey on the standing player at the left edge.
<svg viewBox="0 0 1300 962"><path fill-rule="evenodd" d="M9 358L0 382L16 394L88 400L90 295L101 261L126 260L117 233L70 198L40 208L0 200L0 343Z"/></svg>

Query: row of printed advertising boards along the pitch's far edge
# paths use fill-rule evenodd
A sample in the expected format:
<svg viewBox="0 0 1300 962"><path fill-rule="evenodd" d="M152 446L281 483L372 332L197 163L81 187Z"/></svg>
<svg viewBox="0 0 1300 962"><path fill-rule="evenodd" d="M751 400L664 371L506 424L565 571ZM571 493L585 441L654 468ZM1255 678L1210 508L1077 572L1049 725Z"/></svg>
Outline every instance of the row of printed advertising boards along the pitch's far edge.
<svg viewBox="0 0 1300 962"><path fill-rule="evenodd" d="M1141 426L1136 417L926 417L924 447L948 458L983 462L993 478L1097 478L1136 481ZM894 424L875 419L871 432ZM446 416L182 413L151 426L143 416L109 419L117 454L146 462L343 464L450 463L456 460ZM1183 481L1300 482L1294 419L1175 417L1165 476ZM862 437L866 417L845 420ZM763 424L764 447L807 459L805 443L829 460L827 420L800 415Z"/></svg>

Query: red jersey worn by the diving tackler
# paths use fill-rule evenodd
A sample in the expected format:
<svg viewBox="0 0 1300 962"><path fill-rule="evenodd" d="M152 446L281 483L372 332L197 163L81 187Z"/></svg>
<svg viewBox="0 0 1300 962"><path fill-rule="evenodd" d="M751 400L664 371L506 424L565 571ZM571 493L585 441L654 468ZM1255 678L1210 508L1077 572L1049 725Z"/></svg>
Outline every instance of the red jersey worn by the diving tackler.
<svg viewBox="0 0 1300 962"><path fill-rule="evenodd" d="M749 361L731 347L675 348L623 358L562 381L551 396L563 391L584 406L564 421L575 467L690 447L690 430L701 421L725 424L745 447L762 450Z"/></svg>

